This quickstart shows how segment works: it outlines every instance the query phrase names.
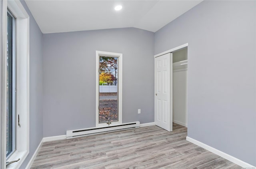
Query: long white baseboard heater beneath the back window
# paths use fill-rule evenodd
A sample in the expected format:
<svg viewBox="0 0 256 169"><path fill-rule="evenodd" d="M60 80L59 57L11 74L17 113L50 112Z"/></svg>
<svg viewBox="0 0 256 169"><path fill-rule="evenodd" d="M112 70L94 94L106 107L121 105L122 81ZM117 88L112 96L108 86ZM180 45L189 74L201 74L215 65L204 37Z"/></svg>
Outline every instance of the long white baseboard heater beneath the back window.
<svg viewBox="0 0 256 169"><path fill-rule="evenodd" d="M125 129L133 129L140 127L140 121L122 123L119 125L110 125L107 127L90 127L86 129L67 130L67 139L81 137L85 135L94 135L99 133L107 133L111 131L120 131Z"/></svg>

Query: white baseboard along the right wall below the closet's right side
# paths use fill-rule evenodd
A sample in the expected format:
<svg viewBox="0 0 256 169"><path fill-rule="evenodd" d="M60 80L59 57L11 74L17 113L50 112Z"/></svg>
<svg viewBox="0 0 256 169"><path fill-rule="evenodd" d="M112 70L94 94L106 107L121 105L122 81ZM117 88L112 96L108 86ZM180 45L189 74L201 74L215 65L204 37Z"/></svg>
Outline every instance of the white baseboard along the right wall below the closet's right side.
<svg viewBox="0 0 256 169"><path fill-rule="evenodd" d="M241 167L244 167L244 168L251 168L251 169L255 169L256 167L254 167L253 165L250 165L240 159L237 159L236 157L233 157L231 155L228 155L227 153L224 153L218 149L215 149L209 145L206 145L200 141L197 141L195 139L192 139L191 137L186 137L186 140L187 141L190 141L191 143L194 143L204 149L207 149L208 151L211 151L212 153L216 154L216 155L219 155L220 157L223 157L224 159L227 159L228 161L231 161L232 163L235 163Z"/></svg>

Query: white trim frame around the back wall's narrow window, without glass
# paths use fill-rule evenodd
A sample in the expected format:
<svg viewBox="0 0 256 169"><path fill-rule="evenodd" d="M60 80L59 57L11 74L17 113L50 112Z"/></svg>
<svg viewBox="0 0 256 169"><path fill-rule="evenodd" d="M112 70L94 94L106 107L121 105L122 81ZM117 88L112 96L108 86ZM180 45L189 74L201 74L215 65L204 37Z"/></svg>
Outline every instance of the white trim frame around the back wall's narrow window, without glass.
<svg viewBox="0 0 256 169"><path fill-rule="evenodd" d="M118 58L118 121L99 123L99 58L100 56L112 56ZM96 127L108 127L122 124L122 56L123 54L113 52L96 51Z"/></svg>

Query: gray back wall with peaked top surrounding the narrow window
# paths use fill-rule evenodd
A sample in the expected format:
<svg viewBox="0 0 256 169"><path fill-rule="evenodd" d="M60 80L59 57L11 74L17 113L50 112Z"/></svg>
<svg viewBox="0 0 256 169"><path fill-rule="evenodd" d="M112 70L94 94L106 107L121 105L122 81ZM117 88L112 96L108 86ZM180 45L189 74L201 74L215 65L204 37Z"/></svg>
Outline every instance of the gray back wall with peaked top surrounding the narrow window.
<svg viewBox="0 0 256 169"><path fill-rule="evenodd" d="M123 54L122 121L154 121L153 32L120 28L43 34L44 137L95 126L96 50Z"/></svg>

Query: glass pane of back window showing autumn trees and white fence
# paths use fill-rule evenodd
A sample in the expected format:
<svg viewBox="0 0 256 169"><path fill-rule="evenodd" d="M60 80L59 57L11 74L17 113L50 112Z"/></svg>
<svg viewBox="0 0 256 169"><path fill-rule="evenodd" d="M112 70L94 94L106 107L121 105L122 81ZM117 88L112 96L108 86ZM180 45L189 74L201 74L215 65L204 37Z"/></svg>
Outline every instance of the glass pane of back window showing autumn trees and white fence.
<svg viewBox="0 0 256 169"><path fill-rule="evenodd" d="M118 58L100 56L99 123L118 121Z"/></svg>

